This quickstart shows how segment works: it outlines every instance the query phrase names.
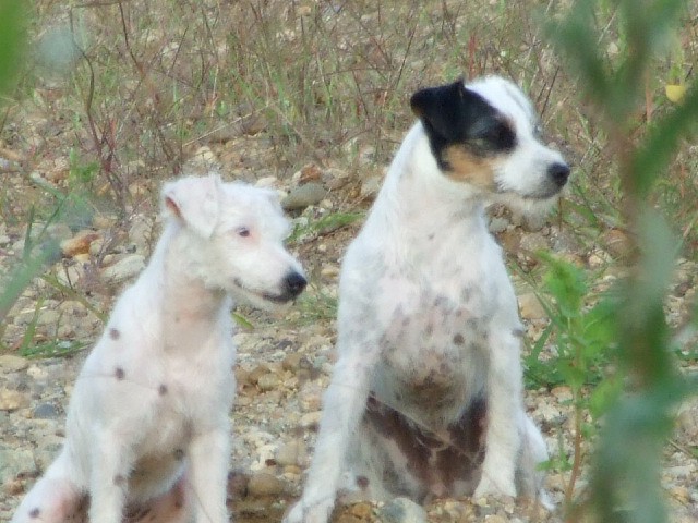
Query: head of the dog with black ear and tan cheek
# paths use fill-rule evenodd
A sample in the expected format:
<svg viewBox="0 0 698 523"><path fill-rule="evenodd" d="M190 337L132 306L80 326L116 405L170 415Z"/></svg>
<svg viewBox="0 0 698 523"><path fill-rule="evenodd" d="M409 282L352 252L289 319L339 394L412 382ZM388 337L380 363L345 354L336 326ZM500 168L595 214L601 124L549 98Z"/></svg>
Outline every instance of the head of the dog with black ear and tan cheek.
<svg viewBox="0 0 698 523"><path fill-rule="evenodd" d="M567 183L568 165L541 142L532 105L513 83L458 81L422 89L410 105L449 179L495 199L531 202L554 198Z"/></svg>

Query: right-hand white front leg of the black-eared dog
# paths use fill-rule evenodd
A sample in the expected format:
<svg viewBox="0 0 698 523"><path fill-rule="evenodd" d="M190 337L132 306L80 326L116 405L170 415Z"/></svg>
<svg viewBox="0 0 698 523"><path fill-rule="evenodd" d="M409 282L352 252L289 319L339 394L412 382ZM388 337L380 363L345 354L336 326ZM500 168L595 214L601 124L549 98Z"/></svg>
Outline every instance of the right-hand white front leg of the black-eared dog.
<svg viewBox="0 0 698 523"><path fill-rule="evenodd" d="M519 339L501 328L490 330L488 428L482 477L474 496L516 496L515 471L521 446L522 377Z"/></svg>

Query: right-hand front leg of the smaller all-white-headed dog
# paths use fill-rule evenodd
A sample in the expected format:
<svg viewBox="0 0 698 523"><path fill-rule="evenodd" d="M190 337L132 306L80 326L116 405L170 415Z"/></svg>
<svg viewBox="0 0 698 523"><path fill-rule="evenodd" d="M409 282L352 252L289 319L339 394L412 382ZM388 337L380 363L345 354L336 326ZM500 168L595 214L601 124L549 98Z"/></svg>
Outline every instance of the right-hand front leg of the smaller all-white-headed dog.
<svg viewBox="0 0 698 523"><path fill-rule="evenodd" d="M230 455L229 424L194 436L189 446L191 492L196 523L228 522L226 508L228 461Z"/></svg>

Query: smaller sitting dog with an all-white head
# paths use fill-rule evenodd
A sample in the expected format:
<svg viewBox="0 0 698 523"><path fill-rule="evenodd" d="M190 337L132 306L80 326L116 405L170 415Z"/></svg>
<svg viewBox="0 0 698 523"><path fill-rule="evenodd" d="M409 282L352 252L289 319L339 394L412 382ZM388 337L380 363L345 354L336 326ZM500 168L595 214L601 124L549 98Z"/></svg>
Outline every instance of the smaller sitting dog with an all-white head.
<svg viewBox="0 0 698 523"><path fill-rule="evenodd" d="M73 391L65 445L13 523L229 521L231 296L292 301L274 193L217 175L168 183L148 267L116 304ZM140 512L139 512L140 511Z"/></svg>

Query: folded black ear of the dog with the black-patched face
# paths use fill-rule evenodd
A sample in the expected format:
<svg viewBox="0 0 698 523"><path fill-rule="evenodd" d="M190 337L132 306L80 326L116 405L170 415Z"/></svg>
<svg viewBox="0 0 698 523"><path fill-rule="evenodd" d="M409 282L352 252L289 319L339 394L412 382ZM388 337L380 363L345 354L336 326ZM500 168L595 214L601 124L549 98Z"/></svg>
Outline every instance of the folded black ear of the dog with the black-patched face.
<svg viewBox="0 0 698 523"><path fill-rule="evenodd" d="M410 99L410 107L428 133L436 133L447 143L460 142L465 137L464 120L471 96L460 78L453 84L418 90Z"/></svg>

